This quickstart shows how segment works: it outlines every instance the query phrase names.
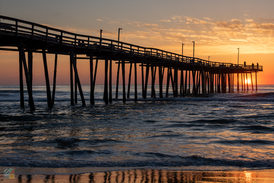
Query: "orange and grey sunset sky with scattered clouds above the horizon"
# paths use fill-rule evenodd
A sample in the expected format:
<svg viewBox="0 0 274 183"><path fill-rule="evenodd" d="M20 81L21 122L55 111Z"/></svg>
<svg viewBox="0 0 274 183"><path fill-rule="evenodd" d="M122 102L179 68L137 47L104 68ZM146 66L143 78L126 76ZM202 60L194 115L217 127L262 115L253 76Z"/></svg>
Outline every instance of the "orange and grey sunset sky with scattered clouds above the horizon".
<svg viewBox="0 0 274 183"><path fill-rule="evenodd" d="M10 11L9 7L13 7L14 11ZM118 28L122 28L120 41L178 54L181 54L184 43L185 56L193 55L192 41L195 41L195 57L207 60L210 56L213 62L237 63L237 48L240 48L239 64L246 61L248 65L258 62L263 66L263 72L258 73L258 84L274 84L272 7L274 2L267 0L0 2L3 16L90 36L100 36L102 29L102 37L114 40L118 39ZM68 9L73 9L73 13ZM34 54L33 59L33 84L45 84L42 54ZM47 61L52 83L54 55L48 54ZM57 84L69 84L68 61L68 56L58 56ZM0 85L19 84L18 53L0 51L0 65ZM79 60L82 84L90 83L88 68L87 60ZM114 84L116 68L117 65L113 64ZM98 69L104 71L104 62L99 64ZM104 83L102 71L98 72L96 84ZM126 78L127 82L128 74ZM141 79L138 84L141 84Z"/></svg>

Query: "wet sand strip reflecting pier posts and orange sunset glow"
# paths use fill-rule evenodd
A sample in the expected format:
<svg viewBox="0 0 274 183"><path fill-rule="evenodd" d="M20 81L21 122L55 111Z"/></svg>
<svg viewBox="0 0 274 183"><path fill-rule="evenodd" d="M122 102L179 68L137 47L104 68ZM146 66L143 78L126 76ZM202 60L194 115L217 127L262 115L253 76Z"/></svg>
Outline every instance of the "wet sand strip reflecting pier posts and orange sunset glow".
<svg viewBox="0 0 274 183"><path fill-rule="evenodd" d="M5 179L1 182L69 182L69 183L270 183L274 182L273 169L250 171L167 171L167 170L126 170L71 175L17 175L16 181ZM0 176L2 179L2 175Z"/></svg>

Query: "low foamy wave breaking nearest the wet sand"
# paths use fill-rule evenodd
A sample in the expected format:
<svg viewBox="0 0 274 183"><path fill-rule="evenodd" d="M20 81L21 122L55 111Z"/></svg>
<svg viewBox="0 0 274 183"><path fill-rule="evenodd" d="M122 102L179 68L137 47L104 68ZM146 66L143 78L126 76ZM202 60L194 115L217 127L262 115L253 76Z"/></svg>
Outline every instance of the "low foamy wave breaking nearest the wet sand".
<svg viewBox="0 0 274 183"><path fill-rule="evenodd" d="M94 151L68 151L68 154L94 154ZM31 158L0 158L0 166L24 167L183 167L183 166L237 166L237 167L274 167L274 160L228 160L205 158L198 155L191 157L173 157L161 153L146 153L152 160L121 160L121 161L87 161L87 160L33 160ZM160 159L159 159L160 158Z"/></svg>

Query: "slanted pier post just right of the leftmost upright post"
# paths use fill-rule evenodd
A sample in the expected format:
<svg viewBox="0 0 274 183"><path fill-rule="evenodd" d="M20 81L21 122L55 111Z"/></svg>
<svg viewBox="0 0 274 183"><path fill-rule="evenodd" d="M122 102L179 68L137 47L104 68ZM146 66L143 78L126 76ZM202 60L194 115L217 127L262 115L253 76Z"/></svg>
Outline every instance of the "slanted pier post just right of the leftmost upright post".
<svg viewBox="0 0 274 183"><path fill-rule="evenodd" d="M23 41L20 44L23 44ZM28 94L29 94L30 110L34 111L35 107L34 107L34 102L33 102L32 88L31 88L31 84L30 84L30 77L29 77L28 67L27 67L27 63L26 63L25 50L24 50L23 47L20 47L18 49L19 49L19 52L21 54L23 67L24 67L24 71L25 71L25 76L26 76L26 84L27 84L27 90L28 90Z"/></svg>

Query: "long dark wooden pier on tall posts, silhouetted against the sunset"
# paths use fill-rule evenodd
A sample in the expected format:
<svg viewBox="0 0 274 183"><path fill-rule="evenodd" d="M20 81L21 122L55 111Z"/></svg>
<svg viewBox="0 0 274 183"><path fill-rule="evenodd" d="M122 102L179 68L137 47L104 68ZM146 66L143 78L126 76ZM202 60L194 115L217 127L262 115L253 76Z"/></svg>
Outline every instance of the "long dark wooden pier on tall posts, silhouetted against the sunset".
<svg viewBox="0 0 274 183"><path fill-rule="evenodd" d="M174 97L178 94L184 97L184 93L190 93L190 79L193 82L192 93L221 93L234 91L234 74L237 74L237 91L239 88L239 75L241 75L240 83L242 91L245 91L245 83L243 79L251 77L251 86L253 89L252 73L255 73L256 91L257 91L257 72L262 71L262 66L252 65L235 65L230 63L209 62L199 58L187 57L176 53L163 51L156 48L146 48L117 40L104 39L100 37L81 35L70 33L64 30L54 29L37 23L27 22L6 16L0 16L0 47L17 47L17 49L0 48L6 51L19 51L19 78L20 78L20 97L21 107L24 107L23 95L23 69L26 77L27 90L29 95L29 105L32 110L35 109L32 97L32 54L42 53L44 61L46 88L47 88L47 104L52 107L54 104L55 88L56 88L56 68L58 55L70 55L70 83L71 83L71 104L77 102L77 86L81 96L83 105L86 105L80 79L78 76L76 60L90 60L90 103L94 104L94 86L96 83L98 60L105 61L105 103L112 102L112 61L117 61L117 83L116 95L118 98L118 81L120 65L122 70L123 81L123 102L126 101L125 88L125 64L130 64L128 92L131 85L132 65L134 65L135 76L135 101L137 101L137 64L142 67L142 97L147 97L147 86L149 72L151 74L151 97L156 98L154 89L156 75L159 77L160 98L163 98L163 76L166 69L167 87L166 97L171 80L172 93ZM25 52L28 53L28 62L26 62ZM50 83L47 71L46 54L55 54L53 92L51 96ZM80 56L81 55L81 56ZM96 60L95 71L93 72L93 60ZM110 62L109 62L110 61ZM109 73L108 73L109 67ZM158 74L156 73L158 69ZM73 86L73 70L75 73L75 86ZM144 72L144 70L146 72ZM181 75L178 75L178 71ZM93 76L94 73L94 76ZM243 77L242 77L243 76ZM109 77L109 83L108 81ZM181 82L178 83L178 78ZM214 88L215 82L215 88ZM108 89L109 86L109 89ZM246 84L247 91L248 83ZM75 90L75 92L73 91ZM108 91L109 90L109 91ZM179 91L180 90L180 91ZM75 100L74 100L75 97Z"/></svg>

